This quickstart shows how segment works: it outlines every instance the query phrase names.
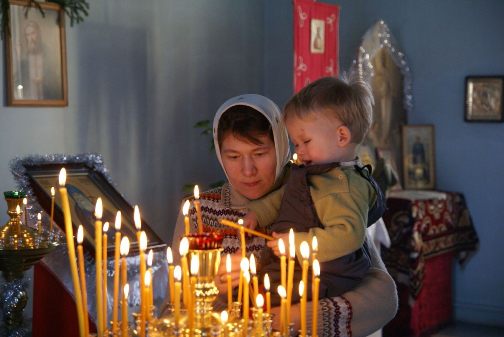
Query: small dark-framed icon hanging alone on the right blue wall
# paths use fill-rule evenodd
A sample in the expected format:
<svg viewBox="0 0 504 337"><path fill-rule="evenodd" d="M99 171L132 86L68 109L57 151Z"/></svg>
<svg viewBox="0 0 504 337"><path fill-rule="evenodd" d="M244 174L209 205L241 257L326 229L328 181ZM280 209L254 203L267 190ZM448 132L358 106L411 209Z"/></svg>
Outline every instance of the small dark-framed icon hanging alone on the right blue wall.
<svg viewBox="0 0 504 337"><path fill-rule="evenodd" d="M504 76L466 77L466 122L502 122Z"/></svg>

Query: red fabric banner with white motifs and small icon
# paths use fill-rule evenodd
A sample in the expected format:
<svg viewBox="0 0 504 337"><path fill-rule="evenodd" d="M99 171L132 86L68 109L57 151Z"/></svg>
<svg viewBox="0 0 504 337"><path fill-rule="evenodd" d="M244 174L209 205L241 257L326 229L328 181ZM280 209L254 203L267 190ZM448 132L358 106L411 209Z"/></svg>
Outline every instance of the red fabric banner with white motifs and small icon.
<svg viewBox="0 0 504 337"><path fill-rule="evenodd" d="M294 0L294 93L325 76L338 76L338 6Z"/></svg>

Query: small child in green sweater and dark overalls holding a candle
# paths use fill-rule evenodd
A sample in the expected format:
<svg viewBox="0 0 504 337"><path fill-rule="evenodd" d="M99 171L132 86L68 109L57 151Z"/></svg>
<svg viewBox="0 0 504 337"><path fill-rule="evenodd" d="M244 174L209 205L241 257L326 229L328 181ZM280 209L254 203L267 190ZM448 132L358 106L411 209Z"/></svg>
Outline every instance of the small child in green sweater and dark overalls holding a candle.
<svg viewBox="0 0 504 337"><path fill-rule="evenodd" d="M385 197L370 168L359 163L355 152L372 123L373 103L361 78L325 77L308 84L285 105L283 118L303 165L293 165L281 189L250 201L247 207L251 212L243 219L249 228L271 225L277 239L268 242L271 249L265 248L261 256L261 279L268 273L272 292L280 284L278 239L283 239L288 255L290 228L295 233L299 261L301 242L311 243L317 236L319 298L349 291L369 268L366 228L382 217ZM294 283L300 280L301 268L296 264ZM311 277L306 287L311 289ZM296 289L293 303L299 301Z"/></svg>

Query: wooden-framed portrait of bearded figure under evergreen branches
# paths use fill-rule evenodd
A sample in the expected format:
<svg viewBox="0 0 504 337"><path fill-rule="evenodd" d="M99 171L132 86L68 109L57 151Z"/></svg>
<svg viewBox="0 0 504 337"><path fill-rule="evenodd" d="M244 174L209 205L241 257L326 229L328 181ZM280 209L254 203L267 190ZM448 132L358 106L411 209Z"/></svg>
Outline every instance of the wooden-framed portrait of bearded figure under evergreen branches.
<svg viewBox="0 0 504 337"><path fill-rule="evenodd" d="M37 3L44 11L42 17L28 1L9 4L7 105L68 106L65 11L54 3Z"/></svg>

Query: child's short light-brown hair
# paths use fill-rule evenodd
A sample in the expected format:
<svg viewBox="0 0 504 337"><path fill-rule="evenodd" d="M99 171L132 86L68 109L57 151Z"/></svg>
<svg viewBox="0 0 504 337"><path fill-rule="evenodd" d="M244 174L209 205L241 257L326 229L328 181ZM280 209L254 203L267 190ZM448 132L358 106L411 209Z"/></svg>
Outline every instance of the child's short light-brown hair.
<svg viewBox="0 0 504 337"><path fill-rule="evenodd" d="M373 122L374 97L361 76L323 77L295 94L283 108L283 119L336 117L350 129L351 142L360 144Z"/></svg>

